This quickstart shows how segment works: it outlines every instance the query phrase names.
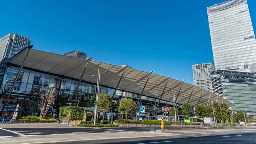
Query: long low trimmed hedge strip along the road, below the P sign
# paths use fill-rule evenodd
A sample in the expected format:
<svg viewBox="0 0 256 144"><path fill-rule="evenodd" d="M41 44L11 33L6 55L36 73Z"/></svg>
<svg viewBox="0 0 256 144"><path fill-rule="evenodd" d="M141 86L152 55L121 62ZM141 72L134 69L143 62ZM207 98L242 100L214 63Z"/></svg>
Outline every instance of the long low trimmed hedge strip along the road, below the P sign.
<svg viewBox="0 0 256 144"><path fill-rule="evenodd" d="M133 120L115 120L115 123L118 124L161 124L159 120L142 120L142 121L133 121ZM166 121L165 124L194 124L200 125L201 123L185 123L185 122L174 122L174 121Z"/></svg>

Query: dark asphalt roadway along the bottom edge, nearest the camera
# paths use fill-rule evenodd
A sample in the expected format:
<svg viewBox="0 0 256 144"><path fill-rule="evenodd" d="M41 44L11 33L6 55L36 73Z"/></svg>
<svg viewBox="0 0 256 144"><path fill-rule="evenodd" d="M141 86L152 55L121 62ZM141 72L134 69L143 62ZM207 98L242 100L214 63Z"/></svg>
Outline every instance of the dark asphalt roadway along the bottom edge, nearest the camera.
<svg viewBox="0 0 256 144"><path fill-rule="evenodd" d="M255 144L256 133L214 135L200 137L166 138L151 137L122 140L94 140L62 142L62 144ZM59 143L55 143L59 144Z"/></svg>

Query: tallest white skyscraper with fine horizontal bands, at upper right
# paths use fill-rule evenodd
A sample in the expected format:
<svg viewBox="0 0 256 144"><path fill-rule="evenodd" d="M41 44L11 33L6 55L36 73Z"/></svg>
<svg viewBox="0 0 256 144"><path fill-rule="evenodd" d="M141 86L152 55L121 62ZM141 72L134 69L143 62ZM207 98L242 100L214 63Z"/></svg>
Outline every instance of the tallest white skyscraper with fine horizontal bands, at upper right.
<svg viewBox="0 0 256 144"><path fill-rule="evenodd" d="M256 41L246 0L207 7L216 70L256 72Z"/></svg>

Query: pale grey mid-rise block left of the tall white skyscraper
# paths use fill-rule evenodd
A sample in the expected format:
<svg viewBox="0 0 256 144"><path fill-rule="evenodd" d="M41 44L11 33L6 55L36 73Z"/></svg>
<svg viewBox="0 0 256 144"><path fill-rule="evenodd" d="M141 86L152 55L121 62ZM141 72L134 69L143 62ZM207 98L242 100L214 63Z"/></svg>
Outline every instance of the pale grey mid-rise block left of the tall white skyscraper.
<svg viewBox="0 0 256 144"><path fill-rule="evenodd" d="M209 71L214 70L211 62L192 65L194 84L200 88L210 91L211 83L209 79Z"/></svg>

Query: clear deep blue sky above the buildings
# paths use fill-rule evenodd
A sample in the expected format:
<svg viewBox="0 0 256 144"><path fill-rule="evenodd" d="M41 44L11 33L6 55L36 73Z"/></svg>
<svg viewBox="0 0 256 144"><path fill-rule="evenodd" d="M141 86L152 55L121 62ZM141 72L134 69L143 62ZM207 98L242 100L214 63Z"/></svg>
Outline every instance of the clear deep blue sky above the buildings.
<svg viewBox="0 0 256 144"><path fill-rule="evenodd" d="M224 0L1 1L0 37L17 33L34 49L80 50L92 60L193 84L192 65L212 62L206 7ZM248 0L252 23L256 1Z"/></svg>

